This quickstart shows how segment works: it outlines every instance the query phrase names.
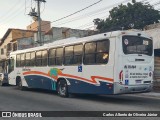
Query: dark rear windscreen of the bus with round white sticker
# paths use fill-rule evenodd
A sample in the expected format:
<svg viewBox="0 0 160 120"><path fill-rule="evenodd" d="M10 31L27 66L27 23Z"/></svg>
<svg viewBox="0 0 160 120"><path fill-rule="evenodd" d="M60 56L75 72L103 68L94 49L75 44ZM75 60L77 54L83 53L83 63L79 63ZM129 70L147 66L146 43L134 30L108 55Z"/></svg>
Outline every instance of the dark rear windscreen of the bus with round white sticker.
<svg viewBox="0 0 160 120"><path fill-rule="evenodd" d="M152 40L140 36L123 36L122 46L124 54L145 54L152 56L153 53Z"/></svg>

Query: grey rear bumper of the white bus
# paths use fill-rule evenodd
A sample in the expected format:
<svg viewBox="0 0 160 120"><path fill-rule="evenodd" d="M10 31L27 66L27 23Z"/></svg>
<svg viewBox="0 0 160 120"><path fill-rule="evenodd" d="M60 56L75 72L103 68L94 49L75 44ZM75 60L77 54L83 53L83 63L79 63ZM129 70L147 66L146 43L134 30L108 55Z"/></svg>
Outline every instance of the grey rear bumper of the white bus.
<svg viewBox="0 0 160 120"><path fill-rule="evenodd" d="M152 87L152 83L143 85L121 85L114 83L114 94L150 92L152 91Z"/></svg>

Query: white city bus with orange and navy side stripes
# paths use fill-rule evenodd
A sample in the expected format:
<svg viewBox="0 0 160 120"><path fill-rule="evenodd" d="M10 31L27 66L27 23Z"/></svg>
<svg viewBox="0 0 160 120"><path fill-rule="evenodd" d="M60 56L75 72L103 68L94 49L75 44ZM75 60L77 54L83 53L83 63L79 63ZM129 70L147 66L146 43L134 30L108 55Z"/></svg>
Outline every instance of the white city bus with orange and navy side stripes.
<svg viewBox="0 0 160 120"><path fill-rule="evenodd" d="M142 31L113 31L57 40L10 53L9 84L69 94L149 92L153 86L152 38Z"/></svg>

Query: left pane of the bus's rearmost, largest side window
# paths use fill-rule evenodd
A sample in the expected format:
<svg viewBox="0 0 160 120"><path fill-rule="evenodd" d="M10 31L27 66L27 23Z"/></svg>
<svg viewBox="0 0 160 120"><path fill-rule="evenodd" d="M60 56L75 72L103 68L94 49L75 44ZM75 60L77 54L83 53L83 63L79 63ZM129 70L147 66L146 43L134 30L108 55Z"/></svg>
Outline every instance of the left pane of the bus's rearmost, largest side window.
<svg viewBox="0 0 160 120"><path fill-rule="evenodd" d="M94 64L96 51L96 42L90 42L85 44L84 64Z"/></svg>

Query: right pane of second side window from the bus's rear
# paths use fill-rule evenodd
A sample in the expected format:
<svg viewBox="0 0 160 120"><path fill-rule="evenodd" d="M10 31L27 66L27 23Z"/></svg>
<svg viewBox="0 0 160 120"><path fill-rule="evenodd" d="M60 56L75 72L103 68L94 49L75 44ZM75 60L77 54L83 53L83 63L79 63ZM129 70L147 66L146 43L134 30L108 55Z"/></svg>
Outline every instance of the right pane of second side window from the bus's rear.
<svg viewBox="0 0 160 120"><path fill-rule="evenodd" d="M74 46L74 64L82 63L82 50L83 50L82 44Z"/></svg>

